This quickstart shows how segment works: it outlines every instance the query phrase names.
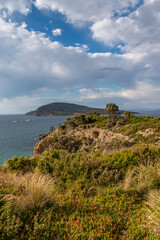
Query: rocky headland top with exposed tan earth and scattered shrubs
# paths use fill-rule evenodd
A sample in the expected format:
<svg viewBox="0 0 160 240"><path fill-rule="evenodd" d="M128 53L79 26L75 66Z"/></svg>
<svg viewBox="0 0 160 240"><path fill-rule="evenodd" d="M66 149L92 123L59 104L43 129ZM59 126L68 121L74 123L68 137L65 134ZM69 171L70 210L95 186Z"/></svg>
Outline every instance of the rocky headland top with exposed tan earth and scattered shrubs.
<svg viewBox="0 0 160 240"><path fill-rule="evenodd" d="M33 153L36 156L50 149L64 149L107 154L134 146L160 146L159 127L159 118L131 115L125 121L119 117L117 123L109 127L107 116L76 113L38 142Z"/></svg>

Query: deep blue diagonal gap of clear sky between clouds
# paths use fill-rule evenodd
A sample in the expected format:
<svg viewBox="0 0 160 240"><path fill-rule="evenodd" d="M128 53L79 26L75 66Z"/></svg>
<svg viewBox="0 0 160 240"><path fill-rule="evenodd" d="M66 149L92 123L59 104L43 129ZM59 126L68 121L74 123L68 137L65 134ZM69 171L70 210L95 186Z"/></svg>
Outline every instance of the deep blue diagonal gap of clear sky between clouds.
<svg viewBox="0 0 160 240"><path fill-rule="evenodd" d="M89 23L76 27L67 22L65 15L57 11L39 10L33 5L31 12L27 16L15 12L12 14L11 19L12 21L18 21L19 24L25 22L28 31L44 32L51 41L58 41L66 47L76 46L76 44L87 44L91 52L95 52L95 50L106 52L105 44L99 44L99 42L92 39ZM61 29L61 35L54 36L52 33L54 29ZM115 52L115 48L109 50Z"/></svg>

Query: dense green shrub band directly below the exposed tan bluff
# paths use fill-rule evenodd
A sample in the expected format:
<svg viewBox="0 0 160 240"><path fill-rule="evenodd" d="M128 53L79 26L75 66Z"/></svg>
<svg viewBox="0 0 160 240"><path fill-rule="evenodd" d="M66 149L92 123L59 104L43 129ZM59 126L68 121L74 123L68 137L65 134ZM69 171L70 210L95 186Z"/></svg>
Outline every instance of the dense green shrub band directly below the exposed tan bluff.
<svg viewBox="0 0 160 240"><path fill-rule="evenodd" d="M89 181L90 187L108 186L122 180L131 166L158 162L159 154L159 148L146 147L110 154L99 151L94 155L85 151L70 154L65 150L50 150L39 160L38 168L43 174L51 174L65 188L82 178Z"/></svg>

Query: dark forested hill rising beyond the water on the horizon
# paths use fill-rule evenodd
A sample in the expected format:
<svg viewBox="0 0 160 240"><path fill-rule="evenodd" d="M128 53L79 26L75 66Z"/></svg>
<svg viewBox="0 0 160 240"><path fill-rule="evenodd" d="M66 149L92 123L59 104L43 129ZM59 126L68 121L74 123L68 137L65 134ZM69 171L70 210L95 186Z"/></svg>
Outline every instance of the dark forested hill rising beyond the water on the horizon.
<svg viewBox="0 0 160 240"><path fill-rule="evenodd" d="M95 111L100 114L106 114L105 109L102 108L90 108L73 103L55 102L39 107L35 111L26 113L26 115L33 116L64 116L73 115L74 113L88 114L91 111Z"/></svg>

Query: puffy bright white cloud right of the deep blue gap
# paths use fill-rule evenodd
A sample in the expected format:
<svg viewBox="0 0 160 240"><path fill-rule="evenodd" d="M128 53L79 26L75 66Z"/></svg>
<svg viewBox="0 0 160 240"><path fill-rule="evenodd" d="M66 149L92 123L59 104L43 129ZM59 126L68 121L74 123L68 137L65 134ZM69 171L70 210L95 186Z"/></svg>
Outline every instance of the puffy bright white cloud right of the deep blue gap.
<svg viewBox="0 0 160 240"><path fill-rule="evenodd" d="M145 0L136 11L128 16L111 18L106 16L96 21L92 27L93 37L107 45L123 42L126 51L144 43L159 43L160 1Z"/></svg>

